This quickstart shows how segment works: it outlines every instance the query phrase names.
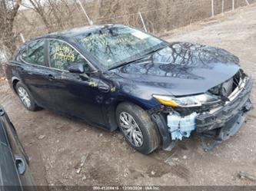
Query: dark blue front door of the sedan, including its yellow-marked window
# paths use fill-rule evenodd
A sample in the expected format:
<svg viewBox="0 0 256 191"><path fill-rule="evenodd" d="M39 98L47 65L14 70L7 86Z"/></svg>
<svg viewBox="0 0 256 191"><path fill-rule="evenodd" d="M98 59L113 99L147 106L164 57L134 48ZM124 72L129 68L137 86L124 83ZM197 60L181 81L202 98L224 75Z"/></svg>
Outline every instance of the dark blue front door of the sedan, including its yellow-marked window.
<svg viewBox="0 0 256 191"><path fill-rule="evenodd" d="M64 41L49 40L49 65L55 70L55 107L65 114L105 124L102 115L104 94L98 90L98 76L88 61ZM68 67L83 64L86 74L72 74ZM87 75L88 74L88 75Z"/></svg>

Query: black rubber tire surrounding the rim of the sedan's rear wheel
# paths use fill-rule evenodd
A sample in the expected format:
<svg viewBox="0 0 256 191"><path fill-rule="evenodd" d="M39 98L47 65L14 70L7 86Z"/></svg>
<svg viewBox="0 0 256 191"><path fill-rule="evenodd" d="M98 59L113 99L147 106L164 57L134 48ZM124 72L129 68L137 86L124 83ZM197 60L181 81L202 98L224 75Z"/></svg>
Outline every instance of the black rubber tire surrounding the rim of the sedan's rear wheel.
<svg viewBox="0 0 256 191"><path fill-rule="evenodd" d="M20 88L22 88L22 90L24 90L28 94L28 100L30 101L29 105L26 104L24 100L22 100L22 96L19 92ZM35 104L35 100L33 99L32 95L28 91L28 88L25 87L25 85L22 84L22 82L18 81L18 83L15 85L15 91L16 91L19 99L22 101L22 104L25 106L25 108L27 110L31 110L31 111L38 110L38 106Z"/></svg>

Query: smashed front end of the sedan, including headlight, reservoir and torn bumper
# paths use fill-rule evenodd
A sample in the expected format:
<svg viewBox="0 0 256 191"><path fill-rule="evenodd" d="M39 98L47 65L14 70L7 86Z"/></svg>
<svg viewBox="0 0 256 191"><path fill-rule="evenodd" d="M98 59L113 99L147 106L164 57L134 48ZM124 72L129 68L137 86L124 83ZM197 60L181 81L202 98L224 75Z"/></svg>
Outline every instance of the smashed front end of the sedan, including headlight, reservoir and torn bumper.
<svg viewBox="0 0 256 191"><path fill-rule="evenodd" d="M149 113L158 125L163 149L171 150L177 140L201 137L205 151L236 133L251 109L250 94L253 81L242 70L228 81L211 88L205 94L189 97L154 97L161 102Z"/></svg>

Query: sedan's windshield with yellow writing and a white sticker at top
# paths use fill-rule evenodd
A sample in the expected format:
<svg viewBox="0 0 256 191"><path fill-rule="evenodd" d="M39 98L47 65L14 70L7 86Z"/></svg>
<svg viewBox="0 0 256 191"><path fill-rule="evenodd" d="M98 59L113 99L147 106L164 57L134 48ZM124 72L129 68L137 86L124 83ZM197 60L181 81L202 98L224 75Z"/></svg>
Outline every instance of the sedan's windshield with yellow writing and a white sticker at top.
<svg viewBox="0 0 256 191"><path fill-rule="evenodd" d="M78 35L75 41L81 44L99 64L108 69L134 61L168 45L165 41L125 26L105 26L93 33Z"/></svg>

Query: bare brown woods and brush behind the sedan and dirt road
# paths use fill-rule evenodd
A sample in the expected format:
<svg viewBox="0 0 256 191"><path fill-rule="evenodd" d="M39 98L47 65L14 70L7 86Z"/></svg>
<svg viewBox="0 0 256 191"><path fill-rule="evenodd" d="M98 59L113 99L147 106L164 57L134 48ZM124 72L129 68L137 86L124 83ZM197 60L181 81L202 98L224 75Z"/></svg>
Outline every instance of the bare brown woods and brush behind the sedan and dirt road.
<svg viewBox="0 0 256 191"><path fill-rule="evenodd" d="M95 25L121 23L164 33L256 0L81 0ZM0 62L25 40L52 31L89 25L79 0L0 0ZM141 12L141 17L139 15ZM0 76L4 75L0 67Z"/></svg>

